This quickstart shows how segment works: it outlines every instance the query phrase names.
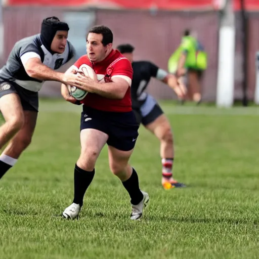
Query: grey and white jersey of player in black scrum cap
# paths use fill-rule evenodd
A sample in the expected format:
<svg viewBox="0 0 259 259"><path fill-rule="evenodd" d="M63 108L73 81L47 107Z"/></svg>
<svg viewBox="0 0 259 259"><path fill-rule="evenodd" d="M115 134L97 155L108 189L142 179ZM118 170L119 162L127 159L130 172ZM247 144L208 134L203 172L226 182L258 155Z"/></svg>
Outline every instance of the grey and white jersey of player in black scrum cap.
<svg viewBox="0 0 259 259"><path fill-rule="evenodd" d="M22 88L38 92L44 81L32 78L26 73L24 64L27 60L40 58L44 65L52 69L58 69L74 55L74 48L69 41L67 41L65 51L62 54L52 54L42 45L39 34L23 38L16 42L6 65L0 69L0 81L15 81Z"/></svg>

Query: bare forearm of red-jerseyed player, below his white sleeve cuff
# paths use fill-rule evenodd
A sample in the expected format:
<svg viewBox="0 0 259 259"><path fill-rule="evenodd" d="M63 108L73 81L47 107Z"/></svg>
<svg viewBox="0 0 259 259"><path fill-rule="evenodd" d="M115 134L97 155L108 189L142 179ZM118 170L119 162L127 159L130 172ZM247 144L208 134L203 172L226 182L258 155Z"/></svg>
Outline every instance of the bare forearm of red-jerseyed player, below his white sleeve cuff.
<svg viewBox="0 0 259 259"><path fill-rule="evenodd" d="M109 99L122 99L127 89L114 82L98 83L88 85L89 92L98 94Z"/></svg>

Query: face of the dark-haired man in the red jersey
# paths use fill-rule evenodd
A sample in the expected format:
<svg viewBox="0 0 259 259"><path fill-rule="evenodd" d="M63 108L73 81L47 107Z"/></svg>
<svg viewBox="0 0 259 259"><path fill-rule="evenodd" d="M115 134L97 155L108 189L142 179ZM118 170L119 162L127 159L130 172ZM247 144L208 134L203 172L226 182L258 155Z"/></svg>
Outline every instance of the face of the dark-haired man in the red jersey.
<svg viewBox="0 0 259 259"><path fill-rule="evenodd" d="M91 61L100 62L110 53L112 44L103 46L103 35L90 32L87 37L87 55Z"/></svg>

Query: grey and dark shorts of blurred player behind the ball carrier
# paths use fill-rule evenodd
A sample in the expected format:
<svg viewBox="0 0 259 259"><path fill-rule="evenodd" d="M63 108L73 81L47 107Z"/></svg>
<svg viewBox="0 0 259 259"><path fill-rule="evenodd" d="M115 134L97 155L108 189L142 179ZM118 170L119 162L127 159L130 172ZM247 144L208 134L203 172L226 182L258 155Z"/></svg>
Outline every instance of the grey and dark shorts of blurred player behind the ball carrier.
<svg viewBox="0 0 259 259"><path fill-rule="evenodd" d="M163 110L151 95L147 95L147 98L141 107L139 109L133 108L133 111L137 122L139 124L142 123L144 126L153 122L161 114L163 114Z"/></svg>

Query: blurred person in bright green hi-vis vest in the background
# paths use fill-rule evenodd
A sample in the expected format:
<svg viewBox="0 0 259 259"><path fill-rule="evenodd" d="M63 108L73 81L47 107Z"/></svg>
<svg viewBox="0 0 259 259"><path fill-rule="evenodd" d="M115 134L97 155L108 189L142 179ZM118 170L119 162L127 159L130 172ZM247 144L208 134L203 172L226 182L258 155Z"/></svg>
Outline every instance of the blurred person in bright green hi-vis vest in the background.
<svg viewBox="0 0 259 259"><path fill-rule="evenodd" d="M168 60L168 70L182 82L183 76L186 76L189 98L197 104L201 102L201 79L206 68L207 53L194 33L185 30L181 45Z"/></svg>

